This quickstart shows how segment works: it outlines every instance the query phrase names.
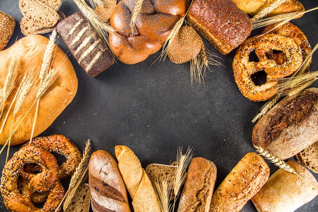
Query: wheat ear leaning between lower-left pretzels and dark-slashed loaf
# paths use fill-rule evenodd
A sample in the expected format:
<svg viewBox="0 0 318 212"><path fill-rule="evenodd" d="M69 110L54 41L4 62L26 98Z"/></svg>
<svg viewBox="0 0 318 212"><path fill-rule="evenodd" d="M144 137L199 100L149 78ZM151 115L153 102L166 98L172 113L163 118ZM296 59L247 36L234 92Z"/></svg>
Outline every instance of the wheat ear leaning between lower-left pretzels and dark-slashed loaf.
<svg viewBox="0 0 318 212"><path fill-rule="evenodd" d="M66 210L70 205L73 197L76 194L78 187L85 180L88 171L88 160L89 160L89 152L91 148L90 139L87 140L85 149L82 154L82 158L78 166L76 167L69 184L69 188L66 194L63 196L63 199L55 209L55 212L59 211L61 205L63 204L63 209Z"/></svg>

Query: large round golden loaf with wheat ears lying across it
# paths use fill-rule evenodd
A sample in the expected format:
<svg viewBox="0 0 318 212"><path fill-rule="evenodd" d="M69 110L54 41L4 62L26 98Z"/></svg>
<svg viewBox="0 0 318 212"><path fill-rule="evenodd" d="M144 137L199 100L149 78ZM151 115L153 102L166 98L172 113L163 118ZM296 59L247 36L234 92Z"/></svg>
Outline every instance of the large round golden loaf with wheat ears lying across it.
<svg viewBox="0 0 318 212"><path fill-rule="evenodd" d="M14 98L16 90L20 84L23 75L27 73L28 69L33 69L35 78L39 77L44 52L47 48L49 39L44 36L34 35L26 36L11 47L0 52L0 90L4 86L4 76L8 72L10 61L15 57L18 60L18 68L16 70L17 82L14 84L13 91L4 104L3 115L0 119L1 126L4 123L5 117L8 113L10 104ZM71 103L78 87L78 81L76 77L73 65L65 52L55 45L53 50L53 59L51 66L57 72L57 78L53 82L52 86L48 88L45 94L40 98L39 109L35 124L34 136L39 135L46 130L53 121L60 115L60 113ZM38 80L36 85L33 86L29 93L26 95L21 109L13 116L13 108L15 107L15 101L12 108L8 113L7 121L4 124L4 128L0 133L0 145L4 145L10 136L11 120L13 121L13 128L18 126L18 123L23 119L23 116L31 108L31 105L36 99L36 94L40 86ZM26 117L22 120L17 130L11 138L11 145L18 145L24 143L30 139L31 129L33 127L34 117L36 112L36 104L32 107Z"/></svg>

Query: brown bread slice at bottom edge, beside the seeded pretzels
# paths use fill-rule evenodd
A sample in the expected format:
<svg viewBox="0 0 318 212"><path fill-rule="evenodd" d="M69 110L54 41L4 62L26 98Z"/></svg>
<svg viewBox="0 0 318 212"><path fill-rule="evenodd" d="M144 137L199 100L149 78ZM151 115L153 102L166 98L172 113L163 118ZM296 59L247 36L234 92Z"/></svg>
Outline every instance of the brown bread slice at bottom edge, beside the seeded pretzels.
<svg viewBox="0 0 318 212"><path fill-rule="evenodd" d="M72 199L72 202L67 208L63 208L64 212L88 212L90 206L90 192L89 186L87 183L81 184L75 196Z"/></svg>

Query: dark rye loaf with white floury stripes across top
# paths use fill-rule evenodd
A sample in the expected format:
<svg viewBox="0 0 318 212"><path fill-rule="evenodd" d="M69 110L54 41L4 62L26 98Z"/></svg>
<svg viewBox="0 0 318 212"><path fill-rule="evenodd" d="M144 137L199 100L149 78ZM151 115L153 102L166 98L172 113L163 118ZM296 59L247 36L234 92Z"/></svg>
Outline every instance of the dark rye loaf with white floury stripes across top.
<svg viewBox="0 0 318 212"><path fill-rule="evenodd" d="M56 30L88 76L96 77L114 64L107 46L81 12L60 21Z"/></svg>

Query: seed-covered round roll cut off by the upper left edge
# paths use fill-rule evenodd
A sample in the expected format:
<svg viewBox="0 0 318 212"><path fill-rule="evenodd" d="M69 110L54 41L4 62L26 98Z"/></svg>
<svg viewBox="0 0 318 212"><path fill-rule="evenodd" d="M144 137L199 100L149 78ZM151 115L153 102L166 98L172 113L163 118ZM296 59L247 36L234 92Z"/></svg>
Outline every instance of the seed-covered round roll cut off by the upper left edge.
<svg viewBox="0 0 318 212"><path fill-rule="evenodd" d="M14 28L15 19L0 11L0 51L7 46L14 32Z"/></svg>

